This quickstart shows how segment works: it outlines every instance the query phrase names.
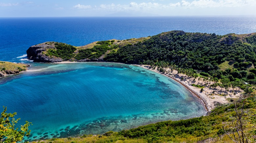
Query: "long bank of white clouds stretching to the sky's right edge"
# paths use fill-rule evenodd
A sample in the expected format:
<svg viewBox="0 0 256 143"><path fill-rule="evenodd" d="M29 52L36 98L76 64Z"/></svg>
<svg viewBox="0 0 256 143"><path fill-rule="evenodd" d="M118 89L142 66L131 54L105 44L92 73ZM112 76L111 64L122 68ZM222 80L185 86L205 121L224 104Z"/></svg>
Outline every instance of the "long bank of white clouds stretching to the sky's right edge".
<svg viewBox="0 0 256 143"><path fill-rule="evenodd" d="M177 3L160 4L160 3L136 3L131 2L129 5L120 4L101 4L99 7L94 7L98 10L115 10L115 11L125 11L125 10L162 10L175 7L183 8L232 8L232 7L242 7L242 6L256 6L256 0L194 0L188 2L186 0L181 0ZM74 8L89 7L84 5L76 5Z"/></svg>

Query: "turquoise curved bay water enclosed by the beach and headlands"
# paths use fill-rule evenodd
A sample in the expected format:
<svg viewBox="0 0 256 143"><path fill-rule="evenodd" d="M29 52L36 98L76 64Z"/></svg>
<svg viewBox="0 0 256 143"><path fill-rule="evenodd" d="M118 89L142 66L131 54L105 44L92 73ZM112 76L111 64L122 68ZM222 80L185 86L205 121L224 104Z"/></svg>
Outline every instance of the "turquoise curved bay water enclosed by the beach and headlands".
<svg viewBox="0 0 256 143"><path fill-rule="evenodd" d="M0 105L28 120L34 139L102 134L200 117L204 105L172 79L118 63L32 63L0 79Z"/></svg>

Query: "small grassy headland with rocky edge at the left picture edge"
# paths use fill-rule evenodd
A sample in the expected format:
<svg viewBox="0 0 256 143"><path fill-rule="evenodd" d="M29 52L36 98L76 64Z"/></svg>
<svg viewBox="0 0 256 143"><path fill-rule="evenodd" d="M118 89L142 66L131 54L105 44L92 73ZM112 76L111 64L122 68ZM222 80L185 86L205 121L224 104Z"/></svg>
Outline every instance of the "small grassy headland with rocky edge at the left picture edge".
<svg viewBox="0 0 256 143"><path fill-rule="evenodd" d="M0 77L27 71L28 67L29 65L27 64L0 61Z"/></svg>

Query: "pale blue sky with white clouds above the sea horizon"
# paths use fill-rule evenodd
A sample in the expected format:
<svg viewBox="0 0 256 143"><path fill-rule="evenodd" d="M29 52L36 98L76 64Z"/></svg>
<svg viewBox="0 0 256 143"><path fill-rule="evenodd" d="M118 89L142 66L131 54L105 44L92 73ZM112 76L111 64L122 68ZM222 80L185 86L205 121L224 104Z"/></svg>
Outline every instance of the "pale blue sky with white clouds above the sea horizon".
<svg viewBox="0 0 256 143"><path fill-rule="evenodd" d="M256 0L0 0L0 17L256 15Z"/></svg>

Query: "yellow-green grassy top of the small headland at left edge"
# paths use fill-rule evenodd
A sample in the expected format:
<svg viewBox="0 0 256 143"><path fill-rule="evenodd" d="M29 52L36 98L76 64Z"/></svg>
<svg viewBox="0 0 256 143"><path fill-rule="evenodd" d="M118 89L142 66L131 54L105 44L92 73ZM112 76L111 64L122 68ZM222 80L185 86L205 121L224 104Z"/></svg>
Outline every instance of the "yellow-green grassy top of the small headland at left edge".
<svg viewBox="0 0 256 143"><path fill-rule="evenodd" d="M27 65L26 64L21 64L21 63L11 63L11 62L3 62L0 61L0 70L5 68L5 70L10 70L10 71L26 71L27 70Z"/></svg>

